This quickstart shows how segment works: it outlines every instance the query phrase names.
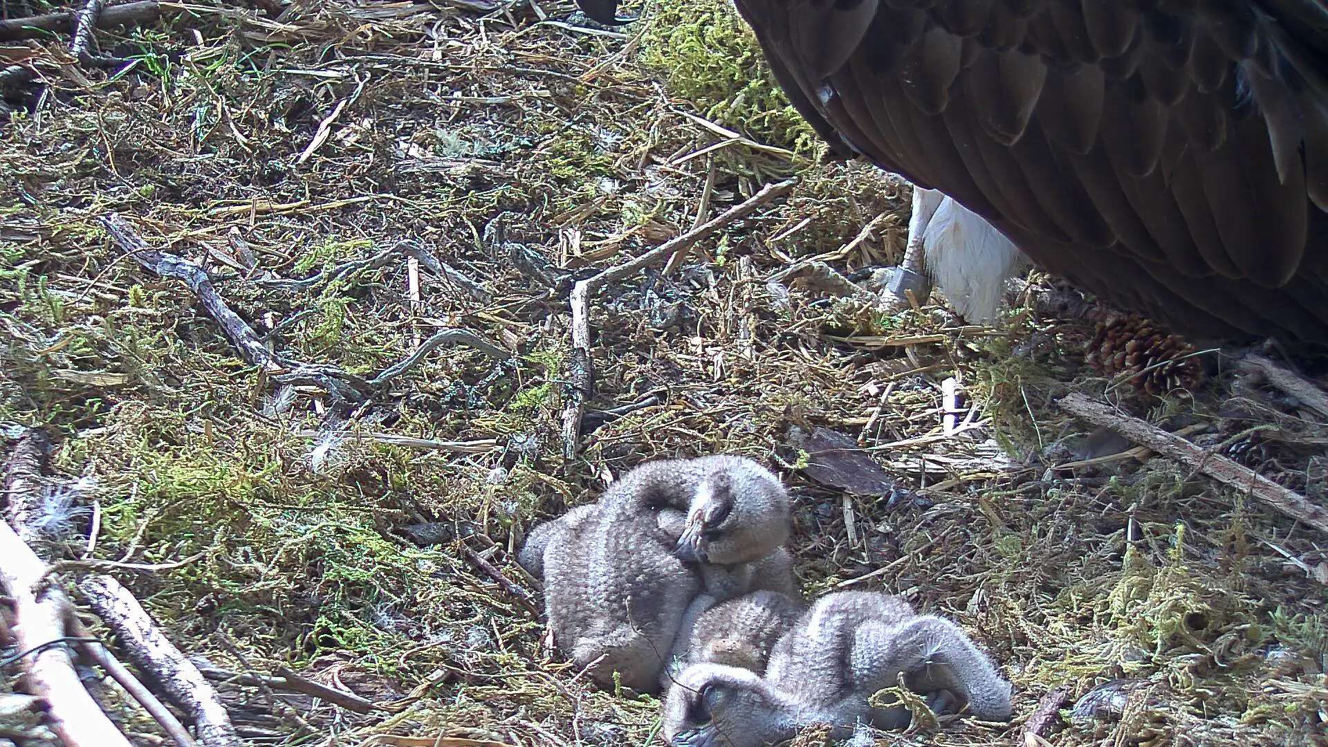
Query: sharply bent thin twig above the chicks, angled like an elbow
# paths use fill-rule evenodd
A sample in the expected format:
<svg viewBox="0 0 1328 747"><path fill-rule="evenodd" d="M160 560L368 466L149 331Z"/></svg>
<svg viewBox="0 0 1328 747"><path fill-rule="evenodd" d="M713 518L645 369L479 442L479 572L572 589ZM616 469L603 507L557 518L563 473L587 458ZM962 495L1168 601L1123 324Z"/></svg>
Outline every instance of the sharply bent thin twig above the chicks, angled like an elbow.
<svg viewBox="0 0 1328 747"><path fill-rule="evenodd" d="M591 296L610 283L622 280L623 278L629 278L647 267L663 262L675 253L681 251L684 247L705 241L716 231L750 215L757 207L761 207L766 202L788 194L795 183L797 179L785 179L773 185L765 185L745 202L729 207L724 213L701 223L700 226L693 227L685 234L673 237L636 259L603 270L590 278L586 278L584 280L576 280L571 292L572 354L568 364L568 379L571 380L571 385L568 387L570 391L567 393L567 401L563 404L564 459L571 460L576 456L576 441L580 436L582 411L586 407L586 400L590 399L595 391L595 368L590 358Z"/></svg>

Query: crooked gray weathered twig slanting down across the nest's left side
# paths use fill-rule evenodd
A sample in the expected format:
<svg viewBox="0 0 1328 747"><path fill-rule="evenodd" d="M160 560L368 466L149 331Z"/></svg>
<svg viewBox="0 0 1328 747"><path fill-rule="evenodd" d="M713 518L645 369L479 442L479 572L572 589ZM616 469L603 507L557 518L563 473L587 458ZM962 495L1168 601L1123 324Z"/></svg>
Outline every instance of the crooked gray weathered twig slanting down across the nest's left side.
<svg viewBox="0 0 1328 747"><path fill-rule="evenodd" d="M189 286L189 290L194 291L194 295L202 302L208 316L222 327L226 339L235 346L235 350L239 351L240 358L246 363L260 366L267 371L284 368L282 362L263 346L254 328L226 304L226 300L216 292L216 287L212 286L212 280L207 276L206 270L182 257L149 249L147 243L138 235L138 231L126 223L118 213L104 217L101 225L106 227L110 238L116 241L120 249L131 255L145 270L155 272L162 278L183 280Z"/></svg>

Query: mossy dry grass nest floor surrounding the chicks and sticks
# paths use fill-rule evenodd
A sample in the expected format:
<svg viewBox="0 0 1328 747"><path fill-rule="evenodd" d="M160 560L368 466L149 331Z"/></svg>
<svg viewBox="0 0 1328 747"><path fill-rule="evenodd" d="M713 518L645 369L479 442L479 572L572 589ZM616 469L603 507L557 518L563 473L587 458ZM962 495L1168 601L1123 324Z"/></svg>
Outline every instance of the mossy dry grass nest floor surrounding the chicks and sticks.
<svg viewBox="0 0 1328 747"><path fill-rule="evenodd" d="M297 0L280 19L170 5L150 28L100 35L135 60L112 77L80 69L58 39L0 49L31 54L41 82L11 90L20 110L0 122L0 419L52 427L60 469L90 480L94 557L203 553L118 574L183 647L390 706L357 716L232 691L252 743L657 740L652 699L576 678L462 550L525 584L511 553L522 533L592 500L604 471L716 451L782 464L809 594L886 569L859 585L956 618L1016 683L1012 726L960 720L882 743L1021 743L1049 689L1080 696L1117 677L1145 694L1125 718L1070 724L1052 744L1324 743L1324 675L1278 670L1267 651L1328 663L1328 542L1165 460L1049 469L1076 459L1085 431L1054 397L1109 391L1082 367L1082 326L1031 302L984 331L942 307L888 316L801 282L788 303L772 295L766 280L799 258L898 261L908 193L818 161L725 4L655 0L625 39L540 23L566 19L568 3L487 16L438 5ZM603 424L564 463L567 284L522 271L510 245L555 270L606 267L691 227L710 169L709 214L766 181L802 182L699 247L680 276L599 296L587 421ZM275 385L183 286L116 250L97 223L110 211L212 270L291 358L371 374L438 327L513 358L444 348L363 407ZM405 238L489 295L424 272L414 303L404 255L308 287L271 282ZM947 376L980 424L952 439L938 436ZM1204 445L1324 498L1328 429L1295 403L1228 375L1193 399L1125 395L1109 391L1158 423L1208 423ZM806 455L785 445L793 424L859 437L927 500L843 501L810 484ZM406 540L404 526L426 522L437 544ZM153 732L124 712L130 731Z"/></svg>

